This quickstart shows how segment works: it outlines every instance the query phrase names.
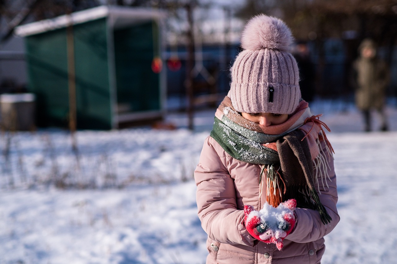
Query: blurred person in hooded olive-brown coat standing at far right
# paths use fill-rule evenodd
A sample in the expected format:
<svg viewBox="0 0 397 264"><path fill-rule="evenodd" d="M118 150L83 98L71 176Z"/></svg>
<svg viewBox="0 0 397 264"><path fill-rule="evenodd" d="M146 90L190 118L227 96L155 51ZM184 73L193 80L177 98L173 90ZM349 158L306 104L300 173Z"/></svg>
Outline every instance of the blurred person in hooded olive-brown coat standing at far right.
<svg viewBox="0 0 397 264"><path fill-rule="evenodd" d="M387 131L385 113L385 90L389 83L389 69L378 58L376 45L372 39L364 39L358 47L359 57L353 63L353 85L357 108L364 117L364 130L371 131L371 110L378 111L381 117L380 130Z"/></svg>

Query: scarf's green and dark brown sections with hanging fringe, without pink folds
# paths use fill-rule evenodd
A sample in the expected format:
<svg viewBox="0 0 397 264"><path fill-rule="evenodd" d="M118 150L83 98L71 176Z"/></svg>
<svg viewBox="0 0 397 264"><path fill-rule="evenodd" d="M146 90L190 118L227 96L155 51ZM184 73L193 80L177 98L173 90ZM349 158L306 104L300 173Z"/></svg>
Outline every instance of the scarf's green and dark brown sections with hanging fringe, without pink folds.
<svg viewBox="0 0 397 264"><path fill-rule="evenodd" d="M296 129L270 135L245 128L231 121L226 115L222 115L221 119L215 117L210 136L231 157L263 165L259 178L262 181L262 175L266 170L269 204L277 201L276 204L272 204L277 207L280 201L294 198L298 207L318 210L324 224L331 221L314 188L310 149L307 139L302 140L303 131ZM271 142L276 142L278 151L266 147L266 143ZM272 196L277 196L277 199L272 199ZM279 196L281 200L278 199Z"/></svg>

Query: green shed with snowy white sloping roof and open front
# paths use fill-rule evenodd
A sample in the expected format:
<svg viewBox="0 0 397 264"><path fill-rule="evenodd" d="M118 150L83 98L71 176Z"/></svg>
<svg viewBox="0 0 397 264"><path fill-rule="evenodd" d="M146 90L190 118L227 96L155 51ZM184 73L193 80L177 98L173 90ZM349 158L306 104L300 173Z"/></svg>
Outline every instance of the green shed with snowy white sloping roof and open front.
<svg viewBox="0 0 397 264"><path fill-rule="evenodd" d="M152 9L99 6L17 27L15 33L25 39L37 124L68 124L67 32L73 40L75 97L70 98L76 99L78 129L162 118L166 77L164 69L152 69L162 51L162 17Z"/></svg>

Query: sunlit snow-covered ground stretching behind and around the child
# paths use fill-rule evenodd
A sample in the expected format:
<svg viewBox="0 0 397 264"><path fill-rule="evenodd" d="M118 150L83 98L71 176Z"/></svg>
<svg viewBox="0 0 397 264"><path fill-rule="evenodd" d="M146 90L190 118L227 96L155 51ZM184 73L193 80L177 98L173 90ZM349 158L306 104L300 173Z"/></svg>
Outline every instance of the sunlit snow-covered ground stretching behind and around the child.
<svg viewBox="0 0 397 264"><path fill-rule="evenodd" d="M332 130L341 216L323 264L396 263L396 105L391 131L369 133L351 104L311 105ZM193 171L213 115L194 132L176 113L177 130L79 131L78 155L62 130L2 134L0 264L205 263Z"/></svg>

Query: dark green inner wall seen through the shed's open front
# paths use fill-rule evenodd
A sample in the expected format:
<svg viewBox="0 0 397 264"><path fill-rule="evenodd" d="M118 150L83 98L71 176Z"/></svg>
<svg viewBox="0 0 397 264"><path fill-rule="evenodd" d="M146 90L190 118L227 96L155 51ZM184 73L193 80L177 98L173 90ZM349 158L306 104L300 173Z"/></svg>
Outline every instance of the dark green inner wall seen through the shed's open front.
<svg viewBox="0 0 397 264"><path fill-rule="evenodd" d="M124 111L160 110L160 77L151 68L160 44L153 28L157 24L148 22L114 31L117 98L128 106Z"/></svg>

